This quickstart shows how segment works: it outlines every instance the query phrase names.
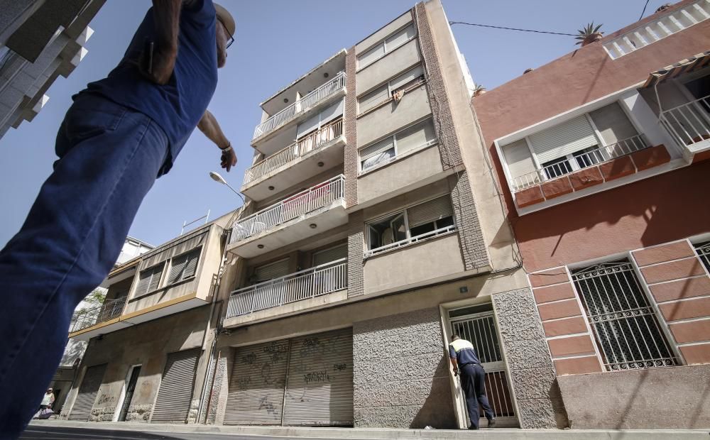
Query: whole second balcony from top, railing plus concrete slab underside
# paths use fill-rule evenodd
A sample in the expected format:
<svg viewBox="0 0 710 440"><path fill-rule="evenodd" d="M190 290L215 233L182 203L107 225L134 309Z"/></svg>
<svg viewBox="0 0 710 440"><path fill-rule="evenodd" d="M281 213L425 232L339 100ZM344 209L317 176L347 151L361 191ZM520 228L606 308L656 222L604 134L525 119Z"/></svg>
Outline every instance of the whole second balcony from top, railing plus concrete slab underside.
<svg viewBox="0 0 710 440"><path fill-rule="evenodd" d="M324 164L342 163L345 143L342 119L328 123L246 170L241 192L252 200L263 200L293 187L322 172Z"/></svg>

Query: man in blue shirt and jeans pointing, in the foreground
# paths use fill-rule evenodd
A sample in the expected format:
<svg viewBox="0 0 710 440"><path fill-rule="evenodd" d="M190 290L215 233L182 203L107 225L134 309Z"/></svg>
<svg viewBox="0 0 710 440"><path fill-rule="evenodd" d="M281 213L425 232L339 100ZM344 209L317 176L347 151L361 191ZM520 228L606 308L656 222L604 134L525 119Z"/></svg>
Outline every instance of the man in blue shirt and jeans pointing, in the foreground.
<svg viewBox="0 0 710 440"><path fill-rule="evenodd" d="M153 0L119 65L73 98L53 173L0 251L0 438L31 419L72 312L111 270L143 197L195 126L221 149L223 168L236 165L207 111L234 31L212 0Z"/></svg>

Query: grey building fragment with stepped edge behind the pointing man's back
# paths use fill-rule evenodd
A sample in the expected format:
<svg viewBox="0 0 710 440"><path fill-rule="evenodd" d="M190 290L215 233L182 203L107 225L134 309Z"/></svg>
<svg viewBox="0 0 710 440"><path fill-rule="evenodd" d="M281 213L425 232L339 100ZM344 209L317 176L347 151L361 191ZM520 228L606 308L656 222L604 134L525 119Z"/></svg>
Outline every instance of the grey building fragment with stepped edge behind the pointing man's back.
<svg viewBox="0 0 710 440"><path fill-rule="evenodd" d="M0 0L0 138L32 121L87 55L87 25L105 1Z"/></svg>

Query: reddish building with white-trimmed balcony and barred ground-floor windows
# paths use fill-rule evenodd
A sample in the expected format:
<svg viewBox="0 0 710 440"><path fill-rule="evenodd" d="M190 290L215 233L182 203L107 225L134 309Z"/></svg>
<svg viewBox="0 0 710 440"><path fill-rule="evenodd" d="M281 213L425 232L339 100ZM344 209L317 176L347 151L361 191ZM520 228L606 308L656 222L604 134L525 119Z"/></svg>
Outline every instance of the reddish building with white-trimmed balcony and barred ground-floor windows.
<svg viewBox="0 0 710 440"><path fill-rule="evenodd" d="M573 429L710 424L708 18L681 1L471 101Z"/></svg>

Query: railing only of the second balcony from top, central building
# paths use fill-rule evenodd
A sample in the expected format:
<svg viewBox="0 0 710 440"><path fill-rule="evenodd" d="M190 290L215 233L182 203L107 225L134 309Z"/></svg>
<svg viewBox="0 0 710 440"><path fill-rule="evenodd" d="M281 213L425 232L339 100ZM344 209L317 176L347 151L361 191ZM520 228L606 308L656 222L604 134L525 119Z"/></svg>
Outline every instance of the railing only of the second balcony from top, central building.
<svg viewBox="0 0 710 440"><path fill-rule="evenodd" d="M320 130L310 133L310 135L305 138L300 139L288 147L280 150L268 158L257 163L253 167L246 170L244 173L244 184L249 185L249 183L254 180L260 179L261 177L267 175L273 170L286 165L292 160L300 158L302 155L309 153L312 150L317 150L323 145L333 141L334 139L342 136L343 134L343 120L338 119L332 123L327 124L320 128Z"/></svg>

